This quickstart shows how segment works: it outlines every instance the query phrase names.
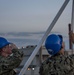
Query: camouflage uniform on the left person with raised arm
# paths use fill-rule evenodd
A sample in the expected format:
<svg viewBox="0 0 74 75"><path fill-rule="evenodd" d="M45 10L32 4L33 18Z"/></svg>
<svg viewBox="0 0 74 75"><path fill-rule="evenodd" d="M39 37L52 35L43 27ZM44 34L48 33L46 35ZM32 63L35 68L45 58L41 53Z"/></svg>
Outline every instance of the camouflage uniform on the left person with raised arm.
<svg viewBox="0 0 74 75"><path fill-rule="evenodd" d="M13 49L12 52L8 57L0 56L0 75L16 75L13 69L20 65L23 53L17 49Z"/></svg>

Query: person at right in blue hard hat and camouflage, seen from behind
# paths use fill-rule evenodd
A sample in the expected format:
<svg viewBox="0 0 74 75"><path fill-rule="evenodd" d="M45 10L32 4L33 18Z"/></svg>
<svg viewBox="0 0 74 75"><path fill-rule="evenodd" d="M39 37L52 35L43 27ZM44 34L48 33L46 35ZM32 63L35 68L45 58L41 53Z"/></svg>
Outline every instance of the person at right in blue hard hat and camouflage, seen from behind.
<svg viewBox="0 0 74 75"><path fill-rule="evenodd" d="M41 64L40 75L74 75L74 62L71 56L64 54L62 35L49 35L45 41L45 47L51 56Z"/></svg>

